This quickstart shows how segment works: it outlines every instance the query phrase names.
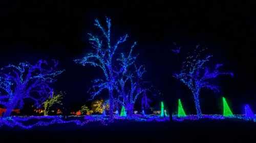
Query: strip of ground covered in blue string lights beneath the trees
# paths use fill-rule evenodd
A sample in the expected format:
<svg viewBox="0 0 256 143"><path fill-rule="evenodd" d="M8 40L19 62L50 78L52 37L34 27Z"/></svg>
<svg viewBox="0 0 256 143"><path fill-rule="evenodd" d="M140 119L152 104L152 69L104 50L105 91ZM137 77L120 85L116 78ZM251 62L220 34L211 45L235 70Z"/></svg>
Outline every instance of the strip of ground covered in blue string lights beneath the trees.
<svg viewBox="0 0 256 143"><path fill-rule="evenodd" d="M197 115L186 115L178 117L173 115L174 122L194 122L200 120L236 120L256 122L255 117L248 117L246 115L202 115L199 118ZM114 115L113 120L110 120L106 115L84 115L84 116L11 116L0 118L0 127L18 127L24 129L31 129L33 127L51 126L54 124L73 124L73 126L86 126L88 123L99 123L100 125L108 126L115 122L168 122L169 116L160 117L159 115L140 115L136 114L130 117L122 117Z"/></svg>

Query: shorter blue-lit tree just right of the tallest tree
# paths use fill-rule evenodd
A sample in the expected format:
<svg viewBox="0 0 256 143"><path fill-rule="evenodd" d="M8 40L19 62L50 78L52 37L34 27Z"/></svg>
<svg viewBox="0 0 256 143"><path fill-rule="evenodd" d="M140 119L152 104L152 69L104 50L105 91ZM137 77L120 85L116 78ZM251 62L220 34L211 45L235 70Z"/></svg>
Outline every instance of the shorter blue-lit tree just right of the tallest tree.
<svg viewBox="0 0 256 143"><path fill-rule="evenodd" d="M138 55L133 56L132 52L136 42L132 45L131 50L127 56L124 53L117 60L120 61L120 69L114 71L118 75L118 82L116 89L118 92L118 101L125 107L127 114L132 115L134 111L134 104L139 96L142 97L142 107L148 106L148 99L146 97L146 88L143 87L142 76L145 73L144 66L137 67L135 60Z"/></svg>

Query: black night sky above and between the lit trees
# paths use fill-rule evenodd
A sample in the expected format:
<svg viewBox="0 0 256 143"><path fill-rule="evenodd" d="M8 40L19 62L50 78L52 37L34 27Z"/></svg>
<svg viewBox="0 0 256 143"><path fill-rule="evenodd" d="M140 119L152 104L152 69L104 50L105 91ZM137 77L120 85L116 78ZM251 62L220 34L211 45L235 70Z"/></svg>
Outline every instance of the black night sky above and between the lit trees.
<svg viewBox="0 0 256 143"><path fill-rule="evenodd" d="M89 8L91 7L91 8ZM106 8L109 7L109 8ZM66 91L67 110L80 108L89 98L91 80L102 76L100 69L73 62L91 49L87 33L97 33L97 17L112 19L113 38L127 33L128 45L138 41L138 62L145 64L145 79L161 91L172 112L173 101L181 98L187 113L196 113L193 96L172 75L179 71L186 53L197 44L208 47L214 55L211 63L224 63L234 77L221 77L215 83L220 93L201 92L202 112L221 113L221 97L230 102L233 112L243 113L243 105L256 110L255 17L251 4L238 3L167 3L122 1L1 1L0 66L39 59L57 59L66 69L53 87ZM181 55L172 53L173 43L181 46ZM213 65L212 65L213 66ZM177 90L178 89L178 90ZM106 97L102 95L102 97Z"/></svg>

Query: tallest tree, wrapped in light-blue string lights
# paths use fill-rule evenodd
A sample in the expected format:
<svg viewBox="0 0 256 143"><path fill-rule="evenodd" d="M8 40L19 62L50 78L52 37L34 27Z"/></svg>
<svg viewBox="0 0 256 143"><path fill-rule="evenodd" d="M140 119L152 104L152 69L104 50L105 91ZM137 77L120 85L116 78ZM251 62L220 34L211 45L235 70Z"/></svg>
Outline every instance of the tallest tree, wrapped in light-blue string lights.
<svg viewBox="0 0 256 143"><path fill-rule="evenodd" d="M112 41L111 39L111 19L106 17L106 28L103 28L98 19L95 19L94 25L100 30L100 36L89 34L89 41L92 44L93 52L88 53L81 59L76 59L75 62L83 66L92 65L99 67L104 74L104 78L94 80L94 85L91 90L92 98L101 93L102 90L109 91L110 115L112 117L114 111L114 90L116 84L116 76L114 67L116 63L116 51L120 44L126 41L128 35L124 35L119 40Z"/></svg>

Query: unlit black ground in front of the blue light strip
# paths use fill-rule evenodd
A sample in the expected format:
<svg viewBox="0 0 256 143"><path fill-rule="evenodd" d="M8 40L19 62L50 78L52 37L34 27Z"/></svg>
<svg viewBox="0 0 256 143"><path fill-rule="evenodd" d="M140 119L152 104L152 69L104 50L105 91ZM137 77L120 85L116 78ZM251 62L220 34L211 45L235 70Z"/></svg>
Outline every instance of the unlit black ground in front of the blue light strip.
<svg viewBox="0 0 256 143"><path fill-rule="evenodd" d="M163 123L115 122L1 128L2 142L255 142L256 123L244 121L185 121Z"/></svg>

